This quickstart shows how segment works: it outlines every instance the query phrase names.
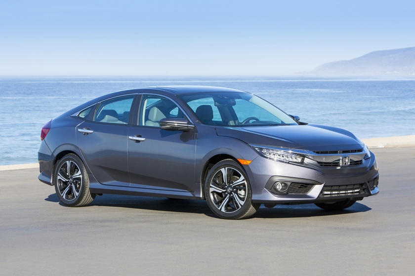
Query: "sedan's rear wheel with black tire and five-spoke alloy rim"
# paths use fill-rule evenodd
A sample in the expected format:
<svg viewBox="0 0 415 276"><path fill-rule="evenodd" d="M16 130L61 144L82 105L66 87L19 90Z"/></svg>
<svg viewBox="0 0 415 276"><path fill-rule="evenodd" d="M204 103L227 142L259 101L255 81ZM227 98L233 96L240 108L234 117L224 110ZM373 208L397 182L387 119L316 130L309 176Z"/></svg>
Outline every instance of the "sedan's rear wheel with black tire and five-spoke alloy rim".
<svg viewBox="0 0 415 276"><path fill-rule="evenodd" d="M89 191L88 173L82 160L72 153L57 162L53 185L59 201L65 206L87 206L95 198Z"/></svg>

